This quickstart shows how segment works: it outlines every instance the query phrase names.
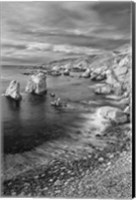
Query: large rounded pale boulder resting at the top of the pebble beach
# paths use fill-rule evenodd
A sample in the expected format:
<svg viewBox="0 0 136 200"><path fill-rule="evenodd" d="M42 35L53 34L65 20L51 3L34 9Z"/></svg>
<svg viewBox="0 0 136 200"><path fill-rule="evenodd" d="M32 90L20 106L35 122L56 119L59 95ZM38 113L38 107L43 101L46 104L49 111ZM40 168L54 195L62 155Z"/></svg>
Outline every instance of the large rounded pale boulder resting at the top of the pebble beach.
<svg viewBox="0 0 136 200"><path fill-rule="evenodd" d="M110 122L123 124L128 122L128 115L119 108L111 106L103 106L97 110L98 117L101 117Z"/></svg>

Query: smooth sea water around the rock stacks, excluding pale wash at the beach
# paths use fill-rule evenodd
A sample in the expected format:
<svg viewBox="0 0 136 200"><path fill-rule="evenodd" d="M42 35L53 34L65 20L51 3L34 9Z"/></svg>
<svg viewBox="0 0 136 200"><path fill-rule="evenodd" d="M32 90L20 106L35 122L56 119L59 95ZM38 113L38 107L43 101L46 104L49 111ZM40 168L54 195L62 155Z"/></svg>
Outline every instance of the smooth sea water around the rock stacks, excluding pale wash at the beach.
<svg viewBox="0 0 136 200"><path fill-rule="evenodd" d="M53 100L49 93L54 92L70 105L96 98L88 87L90 80L79 79L79 73L73 77L47 77L48 93L45 96L26 94L25 86L28 76L22 74L24 69L6 67L2 70L2 93L11 80L20 82L23 100L20 106L2 97L2 132L4 153L20 153L31 150L52 139L68 137L69 128L80 128L84 121L80 109L55 109L50 105Z"/></svg>

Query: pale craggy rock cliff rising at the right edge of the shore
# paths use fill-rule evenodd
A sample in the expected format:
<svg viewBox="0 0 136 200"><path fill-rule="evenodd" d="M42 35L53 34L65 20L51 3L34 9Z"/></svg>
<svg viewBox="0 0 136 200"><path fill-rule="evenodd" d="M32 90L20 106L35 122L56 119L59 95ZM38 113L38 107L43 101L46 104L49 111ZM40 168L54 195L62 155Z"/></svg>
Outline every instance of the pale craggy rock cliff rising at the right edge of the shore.
<svg viewBox="0 0 136 200"><path fill-rule="evenodd" d="M103 78L105 79L105 86L96 88L95 93L110 94L111 88L111 93L122 97L123 102L125 101L123 100L125 98L124 94L130 94L132 89L131 55L128 53L123 53L122 51L122 53L119 53L115 57L113 57L110 62L107 61L107 66L108 68L105 68L105 70L102 70L101 67L99 67L98 71L96 70L95 72L94 70L91 75L92 80L99 80L99 74L100 80L103 80Z"/></svg>

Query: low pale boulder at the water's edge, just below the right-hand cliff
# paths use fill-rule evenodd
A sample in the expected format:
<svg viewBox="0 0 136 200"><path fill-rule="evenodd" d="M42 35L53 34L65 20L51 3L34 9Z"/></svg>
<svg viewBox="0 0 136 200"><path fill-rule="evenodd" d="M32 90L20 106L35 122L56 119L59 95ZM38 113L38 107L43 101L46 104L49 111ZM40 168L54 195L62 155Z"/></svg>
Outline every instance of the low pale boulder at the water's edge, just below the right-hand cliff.
<svg viewBox="0 0 136 200"><path fill-rule="evenodd" d="M113 88L110 85L103 85L103 86L95 88L94 92L96 94L107 95L107 94L113 93Z"/></svg>

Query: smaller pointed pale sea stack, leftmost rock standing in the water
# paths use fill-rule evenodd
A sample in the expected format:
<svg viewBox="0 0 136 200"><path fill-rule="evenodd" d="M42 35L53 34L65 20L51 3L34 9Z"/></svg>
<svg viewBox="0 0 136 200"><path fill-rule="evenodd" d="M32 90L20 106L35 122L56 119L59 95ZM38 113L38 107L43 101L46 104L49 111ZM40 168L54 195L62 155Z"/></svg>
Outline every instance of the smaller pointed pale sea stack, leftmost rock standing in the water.
<svg viewBox="0 0 136 200"><path fill-rule="evenodd" d="M6 92L6 97L10 97L11 99L14 99L16 101L21 100L22 96L20 94L20 84L16 80L13 80L10 82Z"/></svg>

